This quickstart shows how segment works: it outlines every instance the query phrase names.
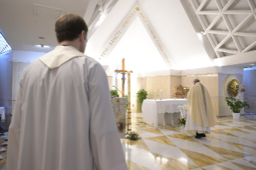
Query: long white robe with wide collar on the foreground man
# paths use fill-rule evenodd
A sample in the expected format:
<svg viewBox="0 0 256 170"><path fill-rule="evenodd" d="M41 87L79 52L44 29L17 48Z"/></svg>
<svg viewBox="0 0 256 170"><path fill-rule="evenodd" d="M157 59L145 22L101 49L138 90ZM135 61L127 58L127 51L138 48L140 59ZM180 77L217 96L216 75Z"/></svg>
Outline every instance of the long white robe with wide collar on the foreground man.
<svg viewBox="0 0 256 170"><path fill-rule="evenodd" d="M127 170L100 63L63 46L30 63L7 155L7 170Z"/></svg>

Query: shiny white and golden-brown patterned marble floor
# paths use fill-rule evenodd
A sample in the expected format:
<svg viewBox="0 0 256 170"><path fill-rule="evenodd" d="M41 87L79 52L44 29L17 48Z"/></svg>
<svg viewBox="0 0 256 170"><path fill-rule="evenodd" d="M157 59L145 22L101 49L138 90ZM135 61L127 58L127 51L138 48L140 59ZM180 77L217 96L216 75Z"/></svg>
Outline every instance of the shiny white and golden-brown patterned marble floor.
<svg viewBox="0 0 256 170"><path fill-rule="evenodd" d="M141 140L122 140L130 170L256 169L256 115L217 119L206 138L196 139L183 127L157 127L133 114L132 131Z"/></svg>

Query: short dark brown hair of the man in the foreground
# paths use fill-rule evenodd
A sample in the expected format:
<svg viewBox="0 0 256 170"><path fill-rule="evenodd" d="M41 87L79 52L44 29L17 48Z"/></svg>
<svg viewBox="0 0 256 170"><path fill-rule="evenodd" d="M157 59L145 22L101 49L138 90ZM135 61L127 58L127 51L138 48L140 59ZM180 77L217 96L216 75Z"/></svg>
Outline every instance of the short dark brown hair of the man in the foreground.
<svg viewBox="0 0 256 170"><path fill-rule="evenodd" d="M55 22L55 32L59 42L73 41L83 30L87 34L88 27L78 14L64 14Z"/></svg>

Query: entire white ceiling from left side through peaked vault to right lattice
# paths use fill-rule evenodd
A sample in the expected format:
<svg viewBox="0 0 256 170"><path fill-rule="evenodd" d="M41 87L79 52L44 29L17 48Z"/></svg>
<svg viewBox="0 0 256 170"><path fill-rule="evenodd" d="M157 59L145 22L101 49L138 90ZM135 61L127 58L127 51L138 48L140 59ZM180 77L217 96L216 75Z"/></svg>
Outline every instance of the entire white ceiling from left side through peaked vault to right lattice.
<svg viewBox="0 0 256 170"><path fill-rule="evenodd" d="M130 70L144 71L256 63L256 0L2 0L0 29L13 50L51 51L57 45L56 18L35 15L33 4L79 14L90 23L100 2L116 5L97 17L86 54L112 69L123 58ZM52 48L35 47L41 43Z"/></svg>

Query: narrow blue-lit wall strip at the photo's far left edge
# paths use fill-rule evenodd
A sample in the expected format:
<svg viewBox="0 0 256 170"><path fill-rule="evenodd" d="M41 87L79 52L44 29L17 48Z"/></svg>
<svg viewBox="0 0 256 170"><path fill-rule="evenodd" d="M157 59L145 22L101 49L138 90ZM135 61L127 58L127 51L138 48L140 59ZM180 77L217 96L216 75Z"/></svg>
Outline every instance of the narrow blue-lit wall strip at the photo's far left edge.
<svg viewBox="0 0 256 170"><path fill-rule="evenodd" d="M6 107L11 113L11 84L13 63L8 58L0 58L0 107Z"/></svg>

